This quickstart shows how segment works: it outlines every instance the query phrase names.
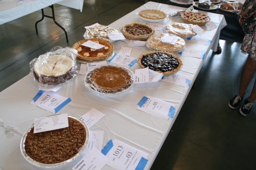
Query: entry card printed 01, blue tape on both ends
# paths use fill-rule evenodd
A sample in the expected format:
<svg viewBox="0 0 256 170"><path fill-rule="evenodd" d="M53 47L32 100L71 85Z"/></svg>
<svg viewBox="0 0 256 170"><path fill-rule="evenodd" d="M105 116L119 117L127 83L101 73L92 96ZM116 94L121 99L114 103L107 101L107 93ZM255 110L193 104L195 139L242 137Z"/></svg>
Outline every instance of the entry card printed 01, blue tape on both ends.
<svg viewBox="0 0 256 170"><path fill-rule="evenodd" d="M151 96L143 96L137 105L140 111L153 114L166 120L169 117L173 118L176 111L174 104Z"/></svg>

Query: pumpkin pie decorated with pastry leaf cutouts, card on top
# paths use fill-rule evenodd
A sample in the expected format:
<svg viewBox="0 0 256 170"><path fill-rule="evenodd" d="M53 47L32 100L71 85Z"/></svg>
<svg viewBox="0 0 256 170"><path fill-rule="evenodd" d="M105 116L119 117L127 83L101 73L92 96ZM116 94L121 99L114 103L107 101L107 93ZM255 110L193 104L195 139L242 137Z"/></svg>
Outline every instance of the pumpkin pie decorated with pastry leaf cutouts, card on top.
<svg viewBox="0 0 256 170"><path fill-rule="evenodd" d="M85 47L82 44L86 41L93 41L94 43L98 43L104 45L104 47L100 49L94 49L90 47ZM104 60L114 53L114 45L110 43L110 41L99 38L89 38L78 41L75 43L72 48L76 49L78 52L77 58L85 61L97 61Z"/></svg>

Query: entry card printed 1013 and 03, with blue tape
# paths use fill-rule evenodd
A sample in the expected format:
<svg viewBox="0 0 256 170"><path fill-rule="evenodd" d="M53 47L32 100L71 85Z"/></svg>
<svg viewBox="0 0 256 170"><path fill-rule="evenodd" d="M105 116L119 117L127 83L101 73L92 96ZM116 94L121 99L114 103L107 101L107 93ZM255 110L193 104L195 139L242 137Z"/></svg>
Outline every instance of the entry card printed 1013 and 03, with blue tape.
<svg viewBox="0 0 256 170"><path fill-rule="evenodd" d="M107 165L115 169L142 170L147 165L148 154L119 140L109 140L101 150L109 158Z"/></svg>

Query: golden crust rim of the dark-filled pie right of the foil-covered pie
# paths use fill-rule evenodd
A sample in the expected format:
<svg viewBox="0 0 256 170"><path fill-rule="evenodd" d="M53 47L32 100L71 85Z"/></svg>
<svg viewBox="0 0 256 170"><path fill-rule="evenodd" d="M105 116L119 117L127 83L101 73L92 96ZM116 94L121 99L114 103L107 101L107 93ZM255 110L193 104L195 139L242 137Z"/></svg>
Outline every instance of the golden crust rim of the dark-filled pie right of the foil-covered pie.
<svg viewBox="0 0 256 170"><path fill-rule="evenodd" d="M139 25L140 27L144 27L145 29L151 30L151 32L147 33L147 34L132 35L131 33L126 31L127 27L134 27L136 30L138 30L138 27L136 25ZM145 30L145 29L142 28L141 30ZM143 24L143 23L139 23L139 22L132 22L129 24L125 24L121 28L121 32L123 33L123 35L126 39L147 40L148 37L150 37L151 35L153 35L155 33L155 30L153 28L149 27L147 24Z"/></svg>

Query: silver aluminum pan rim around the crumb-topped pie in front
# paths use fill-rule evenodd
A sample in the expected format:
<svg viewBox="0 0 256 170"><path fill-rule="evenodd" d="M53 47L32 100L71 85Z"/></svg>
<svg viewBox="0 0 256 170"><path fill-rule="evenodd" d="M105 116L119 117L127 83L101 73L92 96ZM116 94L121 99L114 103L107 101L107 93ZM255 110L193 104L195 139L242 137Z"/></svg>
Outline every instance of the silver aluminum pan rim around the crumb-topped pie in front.
<svg viewBox="0 0 256 170"><path fill-rule="evenodd" d="M28 128L28 130L23 134L23 137L22 137L21 142L20 142L21 154L27 160L28 163L30 163L30 164L32 164L34 166L37 166L37 167L42 167L42 168L55 168L55 167L60 167L62 165L66 165L66 164L68 164L70 162L73 162L76 158L78 158L79 156L81 156L83 154L83 151L86 149L86 147L88 145L88 142L89 142L89 136L90 136L89 129L87 128L86 124L83 121L79 120L79 118L76 118L76 117L70 116L70 115L68 115L68 117L73 118L74 120L76 120L79 123L81 123L84 126L84 129L85 129L85 133L86 134L85 134L84 145L79 149L78 153L74 157L72 157L72 158L69 158L69 159L67 159L67 160L65 160L63 162L55 163L55 164L44 164L44 163L40 163L40 162L37 162L36 160L32 159L26 153L25 141L26 141L28 132L30 132L30 130L34 127L34 123L33 123Z"/></svg>

